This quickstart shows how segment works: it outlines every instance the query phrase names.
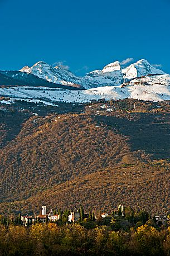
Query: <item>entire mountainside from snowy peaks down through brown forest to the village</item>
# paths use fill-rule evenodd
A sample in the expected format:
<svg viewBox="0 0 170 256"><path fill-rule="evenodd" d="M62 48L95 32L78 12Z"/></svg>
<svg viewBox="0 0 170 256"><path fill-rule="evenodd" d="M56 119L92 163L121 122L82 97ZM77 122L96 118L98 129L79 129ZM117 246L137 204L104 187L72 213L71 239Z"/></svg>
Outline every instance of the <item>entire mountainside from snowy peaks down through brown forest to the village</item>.
<svg viewBox="0 0 170 256"><path fill-rule="evenodd" d="M169 74L146 60L85 77L39 62L0 82L1 213L169 211Z"/></svg>

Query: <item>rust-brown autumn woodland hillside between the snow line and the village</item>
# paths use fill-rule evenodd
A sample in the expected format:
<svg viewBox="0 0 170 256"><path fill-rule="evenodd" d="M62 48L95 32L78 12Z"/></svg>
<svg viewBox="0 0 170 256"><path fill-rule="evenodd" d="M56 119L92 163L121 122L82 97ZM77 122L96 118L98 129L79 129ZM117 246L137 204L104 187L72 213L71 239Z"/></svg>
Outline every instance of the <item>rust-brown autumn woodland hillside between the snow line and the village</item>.
<svg viewBox="0 0 170 256"><path fill-rule="evenodd" d="M43 204L76 209L80 202L95 211L119 203L170 211L169 102L17 102L2 106L0 116L1 213L38 212Z"/></svg>

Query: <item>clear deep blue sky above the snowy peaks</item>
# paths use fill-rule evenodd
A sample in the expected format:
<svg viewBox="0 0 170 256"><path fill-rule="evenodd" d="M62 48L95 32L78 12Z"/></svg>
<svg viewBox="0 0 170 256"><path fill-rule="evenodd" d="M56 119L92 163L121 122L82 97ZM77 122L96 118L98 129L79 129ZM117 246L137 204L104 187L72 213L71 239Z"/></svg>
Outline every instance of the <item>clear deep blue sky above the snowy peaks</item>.
<svg viewBox="0 0 170 256"><path fill-rule="evenodd" d="M133 58L170 73L169 13L169 0L0 0L0 69L43 60L84 75Z"/></svg>

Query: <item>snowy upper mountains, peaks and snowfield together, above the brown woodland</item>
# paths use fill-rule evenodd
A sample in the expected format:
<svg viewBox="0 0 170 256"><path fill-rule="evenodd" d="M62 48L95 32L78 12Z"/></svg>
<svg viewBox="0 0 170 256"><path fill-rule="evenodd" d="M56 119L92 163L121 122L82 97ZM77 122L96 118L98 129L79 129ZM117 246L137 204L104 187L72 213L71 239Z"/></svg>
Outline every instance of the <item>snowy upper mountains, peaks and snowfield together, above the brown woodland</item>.
<svg viewBox="0 0 170 256"><path fill-rule="evenodd" d="M139 60L124 68L119 61L77 77L64 65L52 67L39 61L20 71L0 71L0 96L25 101L90 102L100 98L137 98L149 101L170 99L170 75ZM29 88L28 88L29 87Z"/></svg>

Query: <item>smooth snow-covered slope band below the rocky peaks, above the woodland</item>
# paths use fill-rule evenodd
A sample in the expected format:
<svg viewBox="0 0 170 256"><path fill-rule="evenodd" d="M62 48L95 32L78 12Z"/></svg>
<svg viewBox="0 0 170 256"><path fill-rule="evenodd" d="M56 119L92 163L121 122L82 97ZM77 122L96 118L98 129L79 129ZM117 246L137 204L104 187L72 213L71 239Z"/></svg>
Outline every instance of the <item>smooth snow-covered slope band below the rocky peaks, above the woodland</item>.
<svg viewBox="0 0 170 256"><path fill-rule="evenodd" d="M139 84L135 84L138 83ZM147 85L144 84L147 82ZM0 88L0 95L11 99L46 102L47 105L56 105L57 102L90 102L92 99L105 98L123 99L136 98L145 101L170 100L170 76L155 75L153 77L136 78L127 86L106 86L84 91L69 91L60 88L47 87L14 87Z"/></svg>

